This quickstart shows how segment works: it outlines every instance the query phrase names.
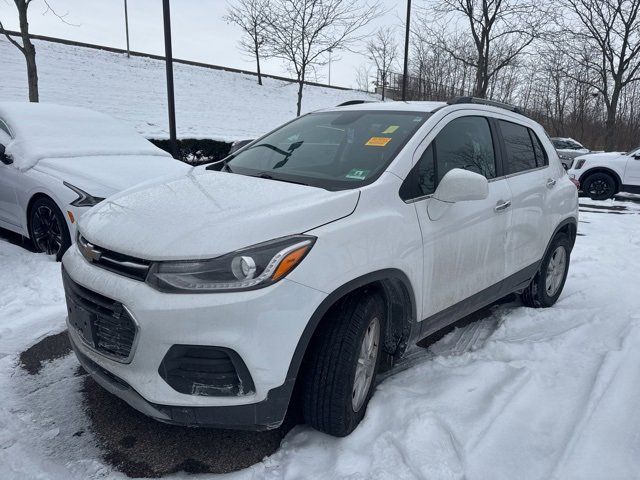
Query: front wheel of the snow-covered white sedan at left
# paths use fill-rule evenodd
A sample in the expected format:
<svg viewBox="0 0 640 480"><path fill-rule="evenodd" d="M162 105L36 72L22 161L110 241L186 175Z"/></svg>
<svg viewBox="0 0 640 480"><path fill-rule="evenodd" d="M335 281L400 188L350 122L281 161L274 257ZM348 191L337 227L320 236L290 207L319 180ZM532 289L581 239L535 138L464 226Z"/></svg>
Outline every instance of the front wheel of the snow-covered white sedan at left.
<svg viewBox="0 0 640 480"><path fill-rule="evenodd" d="M56 260L71 246L71 235L64 215L49 197L39 197L29 211L29 234L36 252L55 255Z"/></svg>

